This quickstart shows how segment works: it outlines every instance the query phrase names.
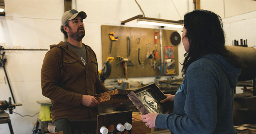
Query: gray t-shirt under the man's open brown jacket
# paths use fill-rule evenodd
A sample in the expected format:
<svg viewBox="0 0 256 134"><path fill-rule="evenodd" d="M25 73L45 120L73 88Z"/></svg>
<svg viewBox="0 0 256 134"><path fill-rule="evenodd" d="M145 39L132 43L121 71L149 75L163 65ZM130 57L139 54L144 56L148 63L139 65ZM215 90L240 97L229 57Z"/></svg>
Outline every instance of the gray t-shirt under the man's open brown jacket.
<svg viewBox="0 0 256 134"><path fill-rule="evenodd" d="M81 61L86 66L87 65L87 63L86 63L87 55L86 55L85 46L83 45L82 47L77 47L77 46L74 46L74 45L70 44L67 41L65 41L65 43L78 55L78 57L81 59Z"/></svg>

